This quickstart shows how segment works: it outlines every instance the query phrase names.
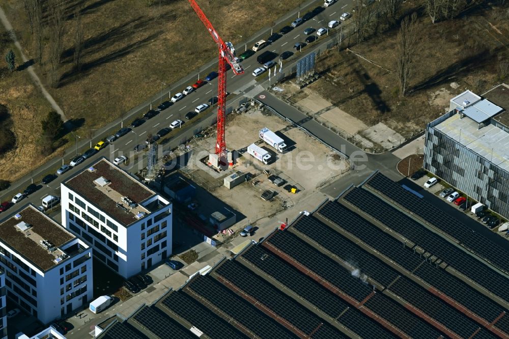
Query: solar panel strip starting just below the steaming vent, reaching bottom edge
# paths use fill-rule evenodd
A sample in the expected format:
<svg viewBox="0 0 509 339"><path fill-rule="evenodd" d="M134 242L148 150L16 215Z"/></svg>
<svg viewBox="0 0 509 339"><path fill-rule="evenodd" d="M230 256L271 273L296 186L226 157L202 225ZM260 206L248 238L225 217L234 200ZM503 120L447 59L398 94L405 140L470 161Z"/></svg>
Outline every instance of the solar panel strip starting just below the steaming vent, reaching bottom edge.
<svg viewBox="0 0 509 339"><path fill-rule="evenodd" d="M438 338L442 333L421 318L410 313L392 299L377 293L367 299L364 306L415 339Z"/></svg>

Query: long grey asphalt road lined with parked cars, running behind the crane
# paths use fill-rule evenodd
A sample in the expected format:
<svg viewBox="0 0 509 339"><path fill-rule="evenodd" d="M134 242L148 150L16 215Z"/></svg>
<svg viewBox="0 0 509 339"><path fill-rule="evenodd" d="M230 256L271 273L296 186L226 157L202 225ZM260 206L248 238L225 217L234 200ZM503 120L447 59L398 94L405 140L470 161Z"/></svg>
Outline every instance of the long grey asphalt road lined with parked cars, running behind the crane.
<svg viewBox="0 0 509 339"><path fill-rule="evenodd" d="M314 2L314 5L313 5L313 2L310 4L311 4L312 8L314 8L314 6L321 5L322 2ZM279 38L273 44L265 47L264 49L257 52L256 54L250 56L250 58L244 60L242 62L242 66L244 67L244 70L245 70L245 73L243 75L234 75L231 70L228 71L228 75L227 75L228 91L232 92L232 93L242 94L242 93L245 93L245 92L249 91L250 89L252 89L254 86L256 86L257 82L255 81L255 78L252 76L251 73L254 68L260 66L256 62L257 55L259 55L261 52L264 52L266 50L275 51L278 54L283 51L286 51L286 50L295 51L292 49L292 46L295 44L295 42L304 40L305 35L303 34L303 31L307 27L309 27L309 26L317 27L318 26L318 28L320 28L321 26L326 26L327 22L330 21L331 19L333 19L333 18L337 19L336 15L337 16L341 15L343 6L345 6L344 3L343 4L336 3L333 6L325 8L325 10L323 12L321 12L320 14L315 16L314 19L316 19L316 21L309 20L307 22L304 22L302 25L300 25L299 27L296 27L296 29L292 30L291 32L289 32L285 35L282 35L281 38ZM297 9L295 10L295 12L297 12ZM303 13L304 13L304 11L301 12L301 15L303 15ZM287 15L287 17L290 17L290 16ZM290 18L293 18L293 17L290 17ZM290 23L290 21L292 21L292 20L288 19L288 23ZM318 24L318 22L320 22L320 24ZM351 22L350 23L347 22L346 24L347 25L351 24ZM340 27L337 27L336 29L339 29L339 28ZM333 30L336 30L336 29L333 29ZM266 35L270 34L270 31L266 31L265 34ZM329 36L322 36L317 42L313 43L310 47L313 48L313 46L319 46L324 42L330 41L334 38L333 36L334 36L334 34L329 34ZM311 50L312 49L305 49L304 51L302 51L302 53L308 53ZM242 49L239 50L239 52L242 52ZM296 54L300 54L300 52L296 52ZM290 58L289 60L284 62L284 68L283 68L284 72L285 72L285 70L291 68L295 64L295 59L297 58L297 56L298 55L294 55L292 58ZM201 75L203 76L203 74L201 74ZM179 87L176 87L175 89L172 88L171 91L166 92L166 93L163 92L165 99L161 98L156 103L158 104L160 101L168 100L168 98L170 96L173 96L176 94L176 90L182 90L185 86L192 84L194 81L195 81L195 79L193 79L192 81L185 83L185 84L181 83ZM87 161L77 165L76 168L73 168L68 173L66 173L66 174L60 176L58 179L54 180L49 186L53 187L53 189L55 189L55 190L58 189L58 187L60 186L60 182L68 179L75 172L80 171L83 168L86 168L87 165L89 165L92 161L96 160L100 156L106 156L106 157L110 158L111 160L119 155L126 155L129 158L132 158L136 154L136 152L133 151L134 146L136 146L137 144L144 143L148 134L157 133L158 130L160 130L163 127L168 127L169 124L176 119L183 120L184 124L181 126L182 127L181 129L179 129L178 131L173 131L172 134L169 134L169 135L171 135L172 139L175 140L175 142L178 142L178 140L182 140L182 135L184 135L184 133L187 132L186 134L189 135L190 134L189 130L191 130L191 132L192 132L192 130L194 128L196 128L195 121L197 121L197 120L201 121L201 119L212 116L215 114L215 111L212 108L209 108L205 112L202 112L198 118L194 118L191 121L186 121L184 119L185 114L188 111L193 111L197 105L199 105L201 103L206 103L213 96L216 96L217 95L216 91L217 91L217 79L214 79L212 81L209 81L202 88L197 89L195 92L190 93L188 96L186 96L182 100L176 102L171 107L161 111L158 116L156 116L150 120L147 120L143 125L141 125L139 127L133 128L133 131L135 133L130 132L127 135L122 136L120 139L116 140L114 144L108 145L108 147L101 150L98 154L92 156ZM236 105L237 101L230 100L227 104L229 104L229 105L235 104ZM126 122L130 122L136 116L137 117L142 116L148 110L148 108L149 107L147 107L147 106L140 105L138 107L138 110L133 115L133 117L129 120L126 119ZM155 108L155 107L153 107L153 108ZM98 135L97 137L95 137L92 140L92 145L94 145L98 140L104 139L107 135L114 133L117 129L119 129L121 127L121 125L123 125L123 123L119 122L118 125L116 127L114 127L114 129L109 129L107 131L103 131L100 135ZM81 138L77 139L77 140L78 140L78 148L77 148L78 154L81 153L81 151L84 151L86 147L90 146L90 144L89 144L90 142L88 140L86 140L86 138L84 136L81 136ZM184 140L182 140L182 142L183 141ZM228 143L228 140L227 140L227 143ZM168 149L169 146L175 147L175 145L167 144L164 148ZM68 152L69 153L66 154L66 156L64 157L66 163L69 163L70 159L76 154L76 150L75 150L75 148L71 147L68 150ZM62 159L58 159L58 158L47 162L46 164L39 167L37 170L34 170L30 175L27 175L23 179L13 183L11 185L11 188L8 191L2 191L0 193L0 201L10 200L12 196L14 196L17 192L23 191L23 189L28 184L30 184L32 181L35 183L40 182L40 180L42 179L42 177L45 174L54 173L54 171L56 171L56 169L61 165L62 165ZM135 170L135 169L133 169L133 170ZM133 172L136 172L136 171L133 171ZM25 200L23 200L22 201L23 205L27 202L31 202L34 205L39 206L42 197L51 193L50 187L46 187L46 186L41 187L41 189L39 189L39 191L37 191L36 193L33 193L31 196L29 196Z"/></svg>

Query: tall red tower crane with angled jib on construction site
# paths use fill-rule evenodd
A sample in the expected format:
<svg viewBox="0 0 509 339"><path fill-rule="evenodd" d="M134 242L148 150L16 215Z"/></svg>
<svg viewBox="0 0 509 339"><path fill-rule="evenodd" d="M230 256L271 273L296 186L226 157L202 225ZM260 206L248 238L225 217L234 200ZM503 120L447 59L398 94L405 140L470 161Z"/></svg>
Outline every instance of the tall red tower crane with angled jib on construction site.
<svg viewBox="0 0 509 339"><path fill-rule="evenodd" d="M212 39L219 47L219 76L217 83L217 140L215 154L219 155L222 159L226 158L226 143L224 141L224 124L226 119L226 63L232 66L235 74L244 73L244 69L235 58L235 49L231 42L222 41L219 34L212 26L212 23L207 19L205 13L194 0L188 0L191 7L196 12L200 20L202 20L205 27L209 31Z"/></svg>

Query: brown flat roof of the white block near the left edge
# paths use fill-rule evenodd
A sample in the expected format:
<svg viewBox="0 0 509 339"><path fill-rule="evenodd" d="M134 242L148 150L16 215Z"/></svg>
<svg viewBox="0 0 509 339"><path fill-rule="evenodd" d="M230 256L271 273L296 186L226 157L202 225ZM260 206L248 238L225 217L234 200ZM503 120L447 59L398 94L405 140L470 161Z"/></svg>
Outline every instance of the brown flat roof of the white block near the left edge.
<svg viewBox="0 0 509 339"><path fill-rule="evenodd" d="M16 218L18 215L20 217ZM26 230L22 231L18 225L24 226ZM26 206L0 223L0 241L43 271L58 265L63 260L58 260L64 253L58 247L75 238L33 205ZM49 251L41 244L43 240L57 249Z"/></svg>

